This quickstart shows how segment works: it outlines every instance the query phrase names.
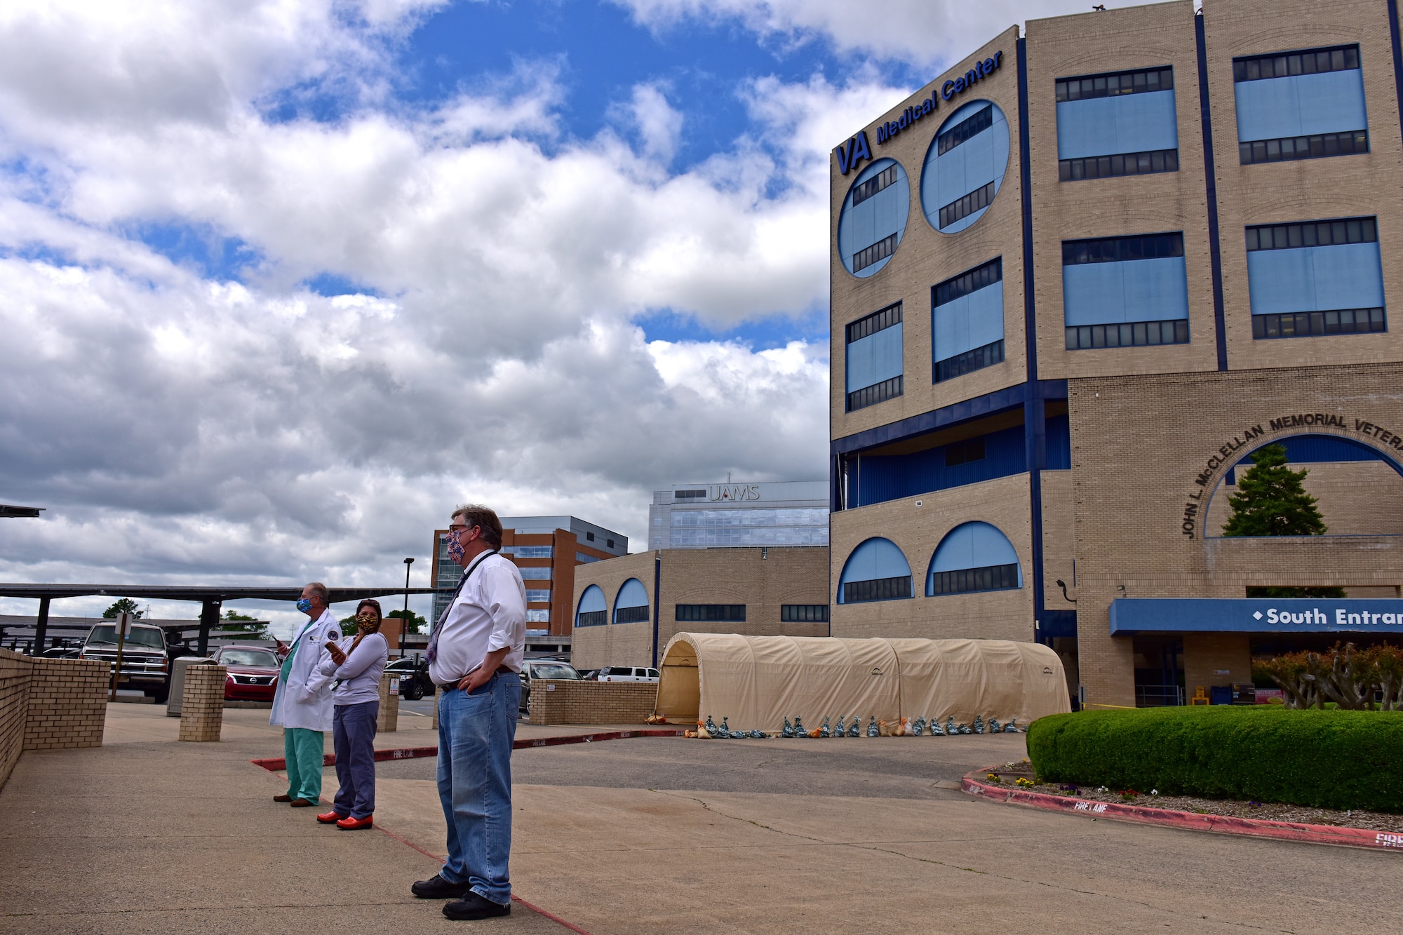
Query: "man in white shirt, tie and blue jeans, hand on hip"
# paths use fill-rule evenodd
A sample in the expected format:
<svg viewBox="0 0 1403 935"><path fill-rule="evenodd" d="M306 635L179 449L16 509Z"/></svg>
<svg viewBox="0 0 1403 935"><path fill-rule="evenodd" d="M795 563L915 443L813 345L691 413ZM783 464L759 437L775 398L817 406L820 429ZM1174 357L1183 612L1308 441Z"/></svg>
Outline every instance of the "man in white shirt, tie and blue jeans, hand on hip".
<svg viewBox="0 0 1403 935"><path fill-rule="evenodd" d="M452 604L429 637L429 678L439 698L438 788L448 821L448 862L410 890L452 898L453 920L511 914L512 741L522 696L526 585L499 555L502 522L487 507L453 511L449 557L463 567Z"/></svg>

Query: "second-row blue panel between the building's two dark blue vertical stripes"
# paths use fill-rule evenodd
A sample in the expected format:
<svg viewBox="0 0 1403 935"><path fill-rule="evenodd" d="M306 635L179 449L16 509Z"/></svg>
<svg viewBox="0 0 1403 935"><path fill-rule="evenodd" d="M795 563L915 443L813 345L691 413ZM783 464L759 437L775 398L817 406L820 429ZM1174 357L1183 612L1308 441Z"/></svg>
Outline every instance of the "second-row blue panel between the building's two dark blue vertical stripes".
<svg viewBox="0 0 1403 935"><path fill-rule="evenodd" d="M1062 303L1068 326L1187 319L1184 258L1062 267Z"/></svg>

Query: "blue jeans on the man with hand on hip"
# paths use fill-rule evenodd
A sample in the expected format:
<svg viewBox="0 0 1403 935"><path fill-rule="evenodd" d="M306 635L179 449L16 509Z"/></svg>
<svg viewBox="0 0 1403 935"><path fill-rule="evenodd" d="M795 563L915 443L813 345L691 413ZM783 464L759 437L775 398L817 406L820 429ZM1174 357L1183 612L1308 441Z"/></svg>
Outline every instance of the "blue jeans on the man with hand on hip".
<svg viewBox="0 0 1403 935"><path fill-rule="evenodd" d="M439 875L484 900L512 900L512 741L522 679L492 675L473 694L439 698L439 800L448 821L448 863Z"/></svg>

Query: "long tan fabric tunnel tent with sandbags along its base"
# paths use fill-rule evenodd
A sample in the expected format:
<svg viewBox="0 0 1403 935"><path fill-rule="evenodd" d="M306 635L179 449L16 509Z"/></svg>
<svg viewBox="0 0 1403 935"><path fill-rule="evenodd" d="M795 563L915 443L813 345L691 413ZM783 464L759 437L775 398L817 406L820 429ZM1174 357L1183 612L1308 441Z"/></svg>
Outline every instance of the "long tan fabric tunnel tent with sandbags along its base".
<svg viewBox="0 0 1403 935"><path fill-rule="evenodd" d="M874 716L968 724L975 715L1026 727L1066 710L1062 660L1038 643L678 633L662 654L655 713L773 733L794 716L808 729L839 716L866 727Z"/></svg>

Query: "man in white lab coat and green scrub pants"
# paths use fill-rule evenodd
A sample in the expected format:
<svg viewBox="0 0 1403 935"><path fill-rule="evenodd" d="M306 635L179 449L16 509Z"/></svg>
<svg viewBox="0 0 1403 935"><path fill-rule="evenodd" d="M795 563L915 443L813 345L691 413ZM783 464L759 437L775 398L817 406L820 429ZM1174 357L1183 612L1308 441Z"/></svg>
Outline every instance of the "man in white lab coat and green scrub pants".
<svg viewBox="0 0 1403 935"><path fill-rule="evenodd" d="M327 585L320 581L304 587L297 609L307 615L307 622L290 643L278 640L283 663L268 723L282 727L288 792L272 800L288 802L293 809L316 804L321 797L321 761L334 708L331 675L321 674L320 663L331 658L327 643L341 639L341 625L327 608L330 599Z"/></svg>

